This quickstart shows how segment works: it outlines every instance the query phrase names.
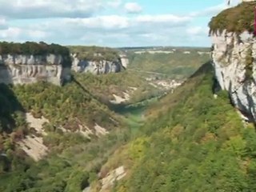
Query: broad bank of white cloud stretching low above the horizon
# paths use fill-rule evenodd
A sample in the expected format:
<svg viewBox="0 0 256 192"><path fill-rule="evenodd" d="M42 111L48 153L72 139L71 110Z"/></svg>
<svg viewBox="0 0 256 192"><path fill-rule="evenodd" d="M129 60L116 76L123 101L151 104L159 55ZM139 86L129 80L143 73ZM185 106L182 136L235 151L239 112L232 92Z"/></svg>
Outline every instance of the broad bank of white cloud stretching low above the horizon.
<svg viewBox="0 0 256 192"><path fill-rule="evenodd" d="M11 23L11 22L10 22ZM45 41L60 44L139 46L170 43L174 34L185 31L190 18L173 14L95 16L91 18L39 19L0 29L1 40ZM157 28L157 30L156 30Z"/></svg>

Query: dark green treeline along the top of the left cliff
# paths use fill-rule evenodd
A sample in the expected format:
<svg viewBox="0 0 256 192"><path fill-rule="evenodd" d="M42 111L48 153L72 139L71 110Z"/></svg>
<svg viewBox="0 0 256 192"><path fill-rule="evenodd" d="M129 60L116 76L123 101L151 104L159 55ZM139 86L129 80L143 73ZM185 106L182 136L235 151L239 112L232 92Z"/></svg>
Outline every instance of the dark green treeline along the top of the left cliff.
<svg viewBox="0 0 256 192"><path fill-rule="evenodd" d="M70 50L58 44L45 42L0 42L0 54L62 54L70 55Z"/></svg>

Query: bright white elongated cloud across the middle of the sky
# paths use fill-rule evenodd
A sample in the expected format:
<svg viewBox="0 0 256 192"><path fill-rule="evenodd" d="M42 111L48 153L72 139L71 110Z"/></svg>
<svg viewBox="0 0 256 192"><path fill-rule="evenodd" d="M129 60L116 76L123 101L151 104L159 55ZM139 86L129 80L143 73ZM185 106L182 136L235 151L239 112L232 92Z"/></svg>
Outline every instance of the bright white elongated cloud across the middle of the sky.
<svg viewBox="0 0 256 192"><path fill-rule="evenodd" d="M144 33L144 31L147 30L156 32L155 26L158 26L158 29L168 29L186 26L189 22L190 18L178 17L172 14L138 15L132 18L119 15L107 15L92 18L59 18L45 24L40 24L38 27L41 30L54 26L62 30L90 30L94 32L100 31L102 33L105 31L112 31L113 33L115 31L129 31L136 34Z"/></svg>

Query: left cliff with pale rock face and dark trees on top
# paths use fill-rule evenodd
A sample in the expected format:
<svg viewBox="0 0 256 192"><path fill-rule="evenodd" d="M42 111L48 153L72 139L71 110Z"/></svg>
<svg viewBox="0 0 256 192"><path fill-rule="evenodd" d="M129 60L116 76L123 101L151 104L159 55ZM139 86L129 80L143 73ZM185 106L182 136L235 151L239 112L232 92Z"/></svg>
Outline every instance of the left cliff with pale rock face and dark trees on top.
<svg viewBox="0 0 256 192"><path fill-rule="evenodd" d="M61 50L60 50L61 49ZM0 82L24 84L46 81L61 85L70 80L69 51L58 45L26 42L0 44Z"/></svg>

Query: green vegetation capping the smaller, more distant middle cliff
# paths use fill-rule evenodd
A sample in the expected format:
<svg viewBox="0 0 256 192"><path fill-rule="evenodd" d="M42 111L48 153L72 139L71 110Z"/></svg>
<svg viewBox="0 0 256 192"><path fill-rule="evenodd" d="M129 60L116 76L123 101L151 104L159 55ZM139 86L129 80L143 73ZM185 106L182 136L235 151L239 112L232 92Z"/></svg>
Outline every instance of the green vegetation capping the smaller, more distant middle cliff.
<svg viewBox="0 0 256 192"><path fill-rule="evenodd" d="M78 58L98 61L105 59L107 61L114 61L119 58L118 50L114 50L108 47L100 46L68 46L70 52L78 54Z"/></svg>

